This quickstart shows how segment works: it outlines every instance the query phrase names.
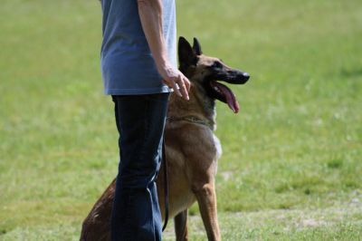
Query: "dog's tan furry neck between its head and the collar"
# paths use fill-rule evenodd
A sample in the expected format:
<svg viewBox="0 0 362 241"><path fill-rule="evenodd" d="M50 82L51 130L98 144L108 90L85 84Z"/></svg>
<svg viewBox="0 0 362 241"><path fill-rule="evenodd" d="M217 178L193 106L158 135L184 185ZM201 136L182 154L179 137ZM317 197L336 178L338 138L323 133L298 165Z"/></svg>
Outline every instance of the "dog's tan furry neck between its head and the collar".
<svg viewBox="0 0 362 241"><path fill-rule="evenodd" d="M184 117L195 117L209 123L211 130L216 130L215 101L205 96L205 92L196 90L197 86L191 84L189 101L172 93L168 102L167 117L180 119Z"/></svg>

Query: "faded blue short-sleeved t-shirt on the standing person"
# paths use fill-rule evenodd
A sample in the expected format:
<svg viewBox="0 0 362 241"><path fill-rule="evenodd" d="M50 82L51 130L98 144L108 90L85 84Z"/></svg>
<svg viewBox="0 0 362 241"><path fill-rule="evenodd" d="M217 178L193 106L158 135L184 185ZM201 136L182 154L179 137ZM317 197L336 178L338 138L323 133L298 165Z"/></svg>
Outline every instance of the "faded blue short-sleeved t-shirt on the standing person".
<svg viewBox="0 0 362 241"><path fill-rule="evenodd" d="M163 0L163 34L176 67L175 0ZM170 92L157 72L138 14L137 0L101 0L100 65L104 92L112 95Z"/></svg>

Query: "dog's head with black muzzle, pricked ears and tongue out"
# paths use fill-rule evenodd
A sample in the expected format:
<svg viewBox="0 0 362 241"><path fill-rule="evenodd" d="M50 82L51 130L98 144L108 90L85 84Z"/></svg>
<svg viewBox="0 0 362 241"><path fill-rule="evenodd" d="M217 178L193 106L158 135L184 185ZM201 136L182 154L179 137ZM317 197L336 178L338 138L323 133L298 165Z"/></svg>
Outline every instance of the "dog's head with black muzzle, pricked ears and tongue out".
<svg viewBox="0 0 362 241"><path fill-rule="evenodd" d="M184 37L179 38L178 60L180 71L200 92L205 93L206 98L227 103L234 113L239 111L235 95L220 82L243 84L249 80L249 73L235 70L218 58L204 55L196 38L192 47Z"/></svg>

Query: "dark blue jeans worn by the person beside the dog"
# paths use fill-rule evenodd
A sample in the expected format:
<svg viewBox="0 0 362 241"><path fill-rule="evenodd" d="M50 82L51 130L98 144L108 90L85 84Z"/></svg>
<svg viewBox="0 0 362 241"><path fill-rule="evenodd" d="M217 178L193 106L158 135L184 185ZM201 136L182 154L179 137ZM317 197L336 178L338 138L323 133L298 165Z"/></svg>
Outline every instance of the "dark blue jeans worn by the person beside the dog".
<svg viewBox="0 0 362 241"><path fill-rule="evenodd" d="M161 240L155 178L161 165L168 93L112 96L119 130L119 174L112 240Z"/></svg>

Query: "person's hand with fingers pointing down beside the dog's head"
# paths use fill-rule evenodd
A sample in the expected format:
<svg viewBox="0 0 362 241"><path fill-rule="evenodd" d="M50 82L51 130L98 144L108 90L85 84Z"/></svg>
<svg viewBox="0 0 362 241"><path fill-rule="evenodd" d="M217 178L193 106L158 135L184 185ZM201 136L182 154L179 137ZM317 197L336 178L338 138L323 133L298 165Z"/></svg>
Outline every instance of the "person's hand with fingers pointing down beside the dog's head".
<svg viewBox="0 0 362 241"><path fill-rule="evenodd" d="M176 92L180 97L186 101L189 100L188 92L190 91L190 81L186 76L170 64L159 68L158 72L164 78L163 82Z"/></svg>

